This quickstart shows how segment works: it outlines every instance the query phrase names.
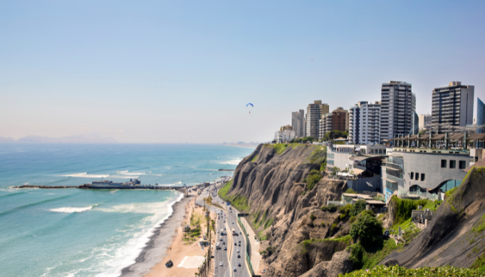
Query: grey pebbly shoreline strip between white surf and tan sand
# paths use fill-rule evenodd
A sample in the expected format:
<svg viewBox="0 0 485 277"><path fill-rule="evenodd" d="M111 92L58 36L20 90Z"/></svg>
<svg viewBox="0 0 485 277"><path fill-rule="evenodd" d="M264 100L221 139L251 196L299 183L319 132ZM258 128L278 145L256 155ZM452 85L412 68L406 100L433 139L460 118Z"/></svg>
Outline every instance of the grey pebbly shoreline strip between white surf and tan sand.
<svg viewBox="0 0 485 277"><path fill-rule="evenodd" d="M120 277L145 276L150 273L152 267L155 267L167 256L166 252L172 244L175 235L177 235L177 228L185 220L186 204L188 199L191 198L182 196L181 199L171 206L172 213L164 222L155 227L150 240L145 244L134 263L121 269ZM167 238L170 233L173 235Z"/></svg>

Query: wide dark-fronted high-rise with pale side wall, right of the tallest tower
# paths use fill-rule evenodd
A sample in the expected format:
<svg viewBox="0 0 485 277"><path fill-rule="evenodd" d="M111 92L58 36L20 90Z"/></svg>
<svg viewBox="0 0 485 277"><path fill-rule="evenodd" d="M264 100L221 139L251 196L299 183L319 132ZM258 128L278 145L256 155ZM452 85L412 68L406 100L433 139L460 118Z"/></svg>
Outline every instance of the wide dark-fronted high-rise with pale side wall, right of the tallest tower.
<svg viewBox="0 0 485 277"><path fill-rule="evenodd" d="M472 125L474 100L475 86L462 85L461 82L450 82L448 87L433 89L431 123Z"/></svg>

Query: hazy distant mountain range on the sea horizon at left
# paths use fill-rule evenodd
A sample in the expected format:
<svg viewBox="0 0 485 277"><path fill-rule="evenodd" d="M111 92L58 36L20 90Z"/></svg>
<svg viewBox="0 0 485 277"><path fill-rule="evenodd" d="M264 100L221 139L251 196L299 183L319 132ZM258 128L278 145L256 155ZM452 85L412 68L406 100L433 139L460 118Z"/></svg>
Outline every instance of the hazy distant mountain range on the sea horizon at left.
<svg viewBox="0 0 485 277"><path fill-rule="evenodd" d="M10 138L0 137L0 143L15 142L14 139L10 139L11 141L3 141L3 139L10 139ZM20 138L17 142L18 143L117 143L116 139L113 139L112 137L103 138L98 134L64 136L62 138L49 138L46 136L25 136L24 138Z"/></svg>

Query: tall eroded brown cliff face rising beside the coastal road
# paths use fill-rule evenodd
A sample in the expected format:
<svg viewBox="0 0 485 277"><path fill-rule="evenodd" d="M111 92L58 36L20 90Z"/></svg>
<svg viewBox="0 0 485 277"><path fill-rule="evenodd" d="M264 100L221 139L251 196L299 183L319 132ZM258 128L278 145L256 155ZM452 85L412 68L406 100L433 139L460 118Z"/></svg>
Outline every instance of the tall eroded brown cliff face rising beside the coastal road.
<svg viewBox="0 0 485 277"><path fill-rule="evenodd" d="M263 231L267 237L263 247L269 244L276 248L266 259L269 266L265 276L296 277L314 268L312 274L318 274L330 267L328 276L340 272L333 265L321 263L329 263L335 251L345 248L343 244L318 242L311 244L308 251L301 248L304 240L328 238L338 213L327 213L320 207L326 205L327 200L338 201L347 188L346 181L323 178L312 190L306 191L303 179L310 170L319 169L319 165L310 162L310 157L320 149L321 146L312 145L288 146L277 154L272 145L259 145L234 172L228 195L246 197L252 222L261 222L263 215L265 221L274 220L264 231L264 222L256 230ZM349 270L346 261L339 259L338 262L335 268Z"/></svg>

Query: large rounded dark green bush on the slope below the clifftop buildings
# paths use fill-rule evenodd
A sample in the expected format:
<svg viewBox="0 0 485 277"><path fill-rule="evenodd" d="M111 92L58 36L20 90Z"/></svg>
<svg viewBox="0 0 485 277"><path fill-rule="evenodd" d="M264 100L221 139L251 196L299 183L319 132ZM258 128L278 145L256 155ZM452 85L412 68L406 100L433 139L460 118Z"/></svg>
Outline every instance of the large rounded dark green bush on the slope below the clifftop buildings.
<svg viewBox="0 0 485 277"><path fill-rule="evenodd" d="M382 240L382 223L378 222L376 217L364 214L362 217L359 217L357 222L352 224L351 237L354 241L360 239L364 246L378 242Z"/></svg>

